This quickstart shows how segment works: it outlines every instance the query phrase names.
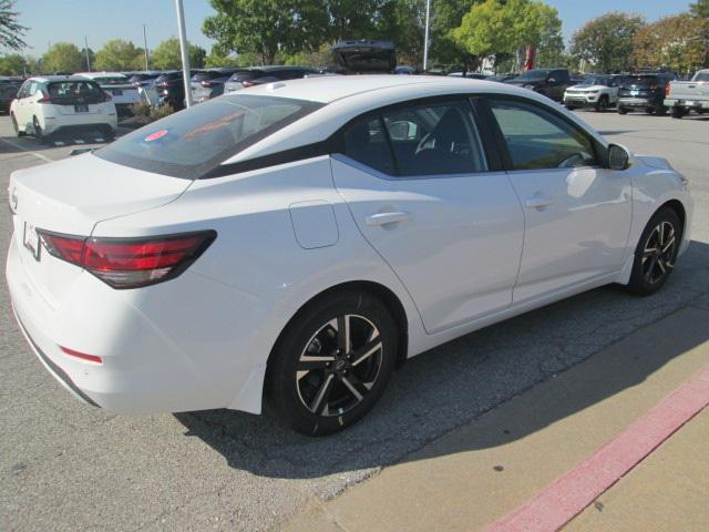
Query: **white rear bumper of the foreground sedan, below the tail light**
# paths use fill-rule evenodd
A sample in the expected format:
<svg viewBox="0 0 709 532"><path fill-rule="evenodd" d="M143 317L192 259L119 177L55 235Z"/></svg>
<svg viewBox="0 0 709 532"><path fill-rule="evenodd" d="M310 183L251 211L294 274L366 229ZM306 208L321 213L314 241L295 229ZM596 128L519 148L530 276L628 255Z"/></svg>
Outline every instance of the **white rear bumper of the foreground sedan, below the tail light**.
<svg viewBox="0 0 709 532"><path fill-rule="evenodd" d="M65 300L52 306L25 273L21 253L13 235L6 276L14 315L42 365L74 397L116 413L260 410L269 350L256 350L253 336L264 316L245 297L188 273L154 287L114 290L82 272ZM226 324L235 316L236 324ZM60 346L102 362L69 356ZM256 390L254 397L244 398L245 389Z"/></svg>

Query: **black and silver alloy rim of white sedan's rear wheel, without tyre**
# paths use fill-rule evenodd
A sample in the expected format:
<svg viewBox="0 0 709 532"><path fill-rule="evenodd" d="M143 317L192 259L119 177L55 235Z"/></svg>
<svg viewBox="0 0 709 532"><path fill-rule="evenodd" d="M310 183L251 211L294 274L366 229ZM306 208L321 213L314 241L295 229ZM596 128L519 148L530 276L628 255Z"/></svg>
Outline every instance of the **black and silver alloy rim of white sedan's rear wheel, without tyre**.
<svg viewBox="0 0 709 532"><path fill-rule="evenodd" d="M341 416L374 386L382 362L379 330L347 314L325 324L307 342L296 370L302 405L318 416Z"/></svg>

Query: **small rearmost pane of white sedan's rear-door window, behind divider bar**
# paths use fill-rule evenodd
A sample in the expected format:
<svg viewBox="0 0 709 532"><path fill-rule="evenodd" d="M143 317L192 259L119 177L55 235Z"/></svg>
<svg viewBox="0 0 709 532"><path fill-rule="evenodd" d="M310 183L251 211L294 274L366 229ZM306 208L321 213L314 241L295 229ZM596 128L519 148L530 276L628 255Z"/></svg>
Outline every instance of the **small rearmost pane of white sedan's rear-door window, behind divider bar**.
<svg viewBox="0 0 709 532"><path fill-rule="evenodd" d="M379 116L359 119L343 133L345 154L367 166L394 174L394 163L389 150L387 133Z"/></svg>

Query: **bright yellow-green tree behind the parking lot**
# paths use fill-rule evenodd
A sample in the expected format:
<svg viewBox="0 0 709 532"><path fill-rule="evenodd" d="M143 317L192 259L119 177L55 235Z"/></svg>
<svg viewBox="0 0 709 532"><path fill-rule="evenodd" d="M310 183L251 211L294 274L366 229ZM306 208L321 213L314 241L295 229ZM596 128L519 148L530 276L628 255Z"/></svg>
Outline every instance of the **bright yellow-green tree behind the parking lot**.
<svg viewBox="0 0 709 532"><path fill-rule="evenodd" d="M494 55L496 63L527 44L537 63L558 61L564 51L562 21L556 9L537 0L485 0L474 4L452 32L454 42L471 55Z"/></svg>

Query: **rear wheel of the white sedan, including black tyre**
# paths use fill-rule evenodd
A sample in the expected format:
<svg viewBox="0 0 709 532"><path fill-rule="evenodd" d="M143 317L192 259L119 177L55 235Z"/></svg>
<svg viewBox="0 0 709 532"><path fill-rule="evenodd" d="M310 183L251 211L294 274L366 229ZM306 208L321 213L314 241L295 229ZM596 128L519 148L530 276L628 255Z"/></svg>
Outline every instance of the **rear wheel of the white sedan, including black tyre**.
<svg viewBox="0 0 709 532"><path fill-rule="evenodd" d="M347 291L309 305L271 355L269 397L280 418L305 434L328 434L361 419L393 371L397 327L367 293Z"/></svg>

